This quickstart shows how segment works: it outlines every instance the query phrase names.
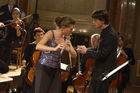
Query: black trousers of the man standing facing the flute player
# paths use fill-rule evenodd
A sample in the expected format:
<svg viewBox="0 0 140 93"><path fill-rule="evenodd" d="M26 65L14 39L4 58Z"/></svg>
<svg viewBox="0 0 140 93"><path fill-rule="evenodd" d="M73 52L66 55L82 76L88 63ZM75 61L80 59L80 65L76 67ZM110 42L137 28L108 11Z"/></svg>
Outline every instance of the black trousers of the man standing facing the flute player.
<svg viewBox="0 0 140 93"><path fill-rule="evenodd" d="M92 78L88 93L108 93L111 80L96 81Z"/></svg>

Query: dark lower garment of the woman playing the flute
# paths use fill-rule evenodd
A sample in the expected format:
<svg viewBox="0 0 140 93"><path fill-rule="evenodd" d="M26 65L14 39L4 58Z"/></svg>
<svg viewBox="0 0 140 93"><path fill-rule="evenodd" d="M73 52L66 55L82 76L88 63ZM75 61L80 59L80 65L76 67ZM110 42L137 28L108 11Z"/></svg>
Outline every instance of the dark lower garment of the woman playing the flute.
<svg viewBox="0 0 140 93"><path fill-rule="evenodd" d="M38 63L35 71L34 88L35 93L61 93L60 69Z"/></svg>

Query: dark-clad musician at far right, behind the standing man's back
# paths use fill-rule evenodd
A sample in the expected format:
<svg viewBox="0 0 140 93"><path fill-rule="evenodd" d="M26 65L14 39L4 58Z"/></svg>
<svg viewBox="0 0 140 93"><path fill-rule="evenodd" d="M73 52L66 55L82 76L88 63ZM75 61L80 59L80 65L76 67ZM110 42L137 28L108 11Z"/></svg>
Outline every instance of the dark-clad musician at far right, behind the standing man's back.
<svg viewBox="0 0 140 93"><path fill-rule="evenodd" d="M119 34L118 35L118 45L122 48L123 52L127 55L127 59L130 61L129 65L125 66L121 72L122 72L122 83L119 86L118 93L122 93L123 90L126 88L127 83L129 82L129 76L130 76L130 65L135 64L135 58L134 54L131 48L128 48L125 46L125 40L124 37Z"/></svg>

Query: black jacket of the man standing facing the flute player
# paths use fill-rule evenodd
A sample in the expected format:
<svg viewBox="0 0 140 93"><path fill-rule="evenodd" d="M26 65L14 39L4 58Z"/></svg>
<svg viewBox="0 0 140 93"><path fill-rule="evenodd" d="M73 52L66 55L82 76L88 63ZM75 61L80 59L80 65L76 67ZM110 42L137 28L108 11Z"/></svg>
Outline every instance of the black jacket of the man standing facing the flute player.
<svg viewBox="0 0 140 93"><path fill-rule="evenodd" d="M101 80L102 74L107 74L116 68L118 38L112 26L102 30L97 50L89 48L86 57L94 58L93 79ZM113 78L110 78L111 80Z"/></svg>

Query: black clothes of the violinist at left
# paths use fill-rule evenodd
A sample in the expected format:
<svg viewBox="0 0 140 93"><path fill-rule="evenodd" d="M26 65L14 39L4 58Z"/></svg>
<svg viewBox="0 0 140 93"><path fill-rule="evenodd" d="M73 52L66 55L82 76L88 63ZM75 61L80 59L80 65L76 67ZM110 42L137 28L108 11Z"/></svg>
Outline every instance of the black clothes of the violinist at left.
<svg viewBox="0 0 140 93"><path fill-rule="evenodd" d="M11 23L12 20L7 21L5 24ZM12 26L7 26L5 30L5 34L7 34L6 38L0 39L0 50L3 50L1 47L4 47L4 53L1 54L0 59L2 59L8 65L10 64L10 54L13 48L21 47L22 40L24 38L24 22L22 21L21 25L21 35L17 37L16 29Z"/></svg>

